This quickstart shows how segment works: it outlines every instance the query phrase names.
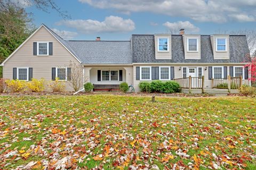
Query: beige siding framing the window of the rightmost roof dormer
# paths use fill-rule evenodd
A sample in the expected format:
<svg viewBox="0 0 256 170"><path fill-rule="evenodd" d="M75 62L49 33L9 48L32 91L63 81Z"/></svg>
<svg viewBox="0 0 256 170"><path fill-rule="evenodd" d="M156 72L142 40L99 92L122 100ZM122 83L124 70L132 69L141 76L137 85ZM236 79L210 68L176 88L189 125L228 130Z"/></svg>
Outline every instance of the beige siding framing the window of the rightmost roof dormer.
<svg viewBox="0 0 256 170"><path fill-rule="evenodd" d="M217 38L226 38L227 40L227 47L226 52L217 52L216 51L216 43ZM229 35L211 35L211 43L212 43L212 50L213 50L213 57L214 59L229 59Z"/></svg>

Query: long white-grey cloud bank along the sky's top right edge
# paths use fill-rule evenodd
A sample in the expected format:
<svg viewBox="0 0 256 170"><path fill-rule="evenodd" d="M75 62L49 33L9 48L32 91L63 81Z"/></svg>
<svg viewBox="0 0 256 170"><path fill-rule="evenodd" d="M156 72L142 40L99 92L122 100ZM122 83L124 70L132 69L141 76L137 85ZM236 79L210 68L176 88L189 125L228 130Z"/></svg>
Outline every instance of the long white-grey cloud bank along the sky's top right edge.
<svg viewBox="0 0 256 170"><path fill-rule="evenodd" d="M188 17L199 22L255 21L255 0L78 0L97 8L118 12L153 12ZM238 15L234 17L234 15ZM239 16L244 15L244 16Z"/></svg>

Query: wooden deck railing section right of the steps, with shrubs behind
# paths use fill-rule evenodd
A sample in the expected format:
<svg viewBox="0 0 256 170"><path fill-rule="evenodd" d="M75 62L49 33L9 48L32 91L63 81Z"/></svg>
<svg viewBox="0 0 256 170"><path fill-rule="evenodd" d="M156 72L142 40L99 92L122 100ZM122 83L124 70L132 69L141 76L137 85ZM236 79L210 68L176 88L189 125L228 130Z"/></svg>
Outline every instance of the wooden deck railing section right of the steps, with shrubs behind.
<svg viewBox="0 0 256 170"><path fill-rule="evenodd" d="M241 77L230 77L228 75L227 79L212 79L212 88L217 89L239 89L242 86L242 76Z"/></svg>

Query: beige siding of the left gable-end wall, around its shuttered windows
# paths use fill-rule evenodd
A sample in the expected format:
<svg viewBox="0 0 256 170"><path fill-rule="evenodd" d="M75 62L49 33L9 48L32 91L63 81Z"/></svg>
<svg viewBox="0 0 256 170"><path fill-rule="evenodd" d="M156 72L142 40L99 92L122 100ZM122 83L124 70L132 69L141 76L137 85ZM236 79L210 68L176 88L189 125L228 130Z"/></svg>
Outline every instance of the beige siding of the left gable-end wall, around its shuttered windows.
<svg viewBox="0 0 256 170"><path fill-rule="evenodd" d="M47 41L53 43L53 55L35 56L33 55L33 43L37 41ZM44 78L46 82L52 80L52 67L67 66L70 61L79 63L68 50L55 39L49 31L41 27L9 60L4 64L4 78L13 78L13 67L32 67L33 78ZM66 90L73 90L69 82L66 84ZM45 90L50 90L46 86Z"/></svg>

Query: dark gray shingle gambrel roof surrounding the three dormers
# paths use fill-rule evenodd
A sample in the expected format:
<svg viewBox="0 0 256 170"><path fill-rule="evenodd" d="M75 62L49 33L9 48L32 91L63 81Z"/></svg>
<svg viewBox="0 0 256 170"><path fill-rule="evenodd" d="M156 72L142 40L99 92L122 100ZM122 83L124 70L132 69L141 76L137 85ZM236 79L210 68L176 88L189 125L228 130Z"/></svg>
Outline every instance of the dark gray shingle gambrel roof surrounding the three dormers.
<svg viewBox="0 0 256 170"><path fill-rule="evenodd" d="M172 35L172 59L155 59L154 35L132 35L133 63L241 63L249 61L245 36L229 36L230 60L214 60L210 35L201 35L201 59L185 60L181 35Z"/></svg>

